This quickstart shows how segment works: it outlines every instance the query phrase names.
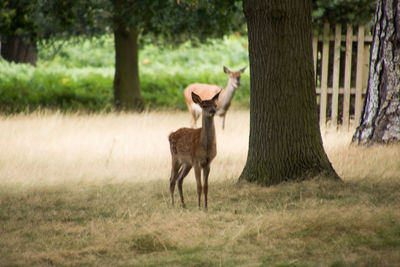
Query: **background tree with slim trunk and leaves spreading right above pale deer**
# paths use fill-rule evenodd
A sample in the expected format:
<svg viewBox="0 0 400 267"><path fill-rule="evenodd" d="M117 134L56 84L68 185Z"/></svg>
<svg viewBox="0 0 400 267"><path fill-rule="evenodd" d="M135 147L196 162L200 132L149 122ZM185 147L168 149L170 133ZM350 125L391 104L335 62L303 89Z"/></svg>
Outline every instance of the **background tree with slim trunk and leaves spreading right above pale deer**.
<svg viewBox="0 0 400 267"><path fill-rule="evenodd" d="M113 0L112 25L116 61L114 100L117 108L143 108L138 71L138 38L179 43L222 37L239 26L233 19L235 0L121 1Z"/></svg>

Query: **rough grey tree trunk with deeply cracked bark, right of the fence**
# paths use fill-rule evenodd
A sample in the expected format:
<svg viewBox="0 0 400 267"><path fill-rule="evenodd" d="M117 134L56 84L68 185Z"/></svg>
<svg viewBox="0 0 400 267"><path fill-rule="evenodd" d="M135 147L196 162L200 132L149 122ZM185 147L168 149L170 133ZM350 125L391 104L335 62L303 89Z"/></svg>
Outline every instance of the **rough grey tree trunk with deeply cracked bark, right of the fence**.
<svg viewBox="0 0 400 267"><path fill-rule="evenodd" d="M400 141L400 1L379 0L358 144Z"/></svg>

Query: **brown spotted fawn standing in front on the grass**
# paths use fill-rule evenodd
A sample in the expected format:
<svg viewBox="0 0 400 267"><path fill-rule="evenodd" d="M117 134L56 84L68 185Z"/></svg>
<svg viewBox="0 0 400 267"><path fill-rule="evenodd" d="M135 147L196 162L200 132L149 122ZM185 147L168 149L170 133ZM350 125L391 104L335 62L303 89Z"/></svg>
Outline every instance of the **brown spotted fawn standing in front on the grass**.
<svg viewBox="0 0 400 267"><path fill-rule="evenodd" d="M180 128L168 137L172 170L170 178L170 193L172 205L174 205L175 184L178 182L179 196L182 207L185 207L182 193L183 179L194 168L197 182L197 197L200 208L202 190L204 191L204 204L207 209L208 175L211 161L217 155L215 140L214 115L217 111L219 92L211 100L201 100L200 96L192 92L193 102L202 110L202 127L199 129ZM203 169L204 187L201 185L201 169Z"/></svg>

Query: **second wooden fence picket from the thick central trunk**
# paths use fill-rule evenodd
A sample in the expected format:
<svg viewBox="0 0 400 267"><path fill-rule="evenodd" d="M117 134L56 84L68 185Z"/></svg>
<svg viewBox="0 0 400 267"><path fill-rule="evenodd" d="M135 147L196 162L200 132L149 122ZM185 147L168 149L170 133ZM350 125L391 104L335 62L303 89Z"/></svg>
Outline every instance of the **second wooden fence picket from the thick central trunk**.
<svg viewBox="0 0 400 267"><path fill-rule="evenodd" d="M328 98L328 60L329 60L329 24L325 23L322 45L321 92L319 101L319 123L321 129L326 126L326 103Z"/></svg>

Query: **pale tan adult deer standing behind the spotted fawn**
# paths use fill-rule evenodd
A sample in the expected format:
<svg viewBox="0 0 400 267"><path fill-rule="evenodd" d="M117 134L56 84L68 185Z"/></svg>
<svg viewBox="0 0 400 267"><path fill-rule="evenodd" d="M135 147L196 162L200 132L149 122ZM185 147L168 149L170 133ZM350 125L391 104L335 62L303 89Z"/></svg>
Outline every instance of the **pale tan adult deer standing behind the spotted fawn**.
<svg viewBox="0 0 400 267"><path fill-rule="evenodd" d="M246 67L238 71L230 71L224 66L224 72L229 75L228 85L222 88L213 84L193 83L185 88L183 95L190 114L192 114L192 128L196 127L197 119L201 114L201 108L192 99L192 92L196 93L201 99L210 99L216 93L221 92L217 102L217 115L222 119L222 129L225 128L225 116L228 111L236 89L240 85L240 74L244 72Z"/></svg>

